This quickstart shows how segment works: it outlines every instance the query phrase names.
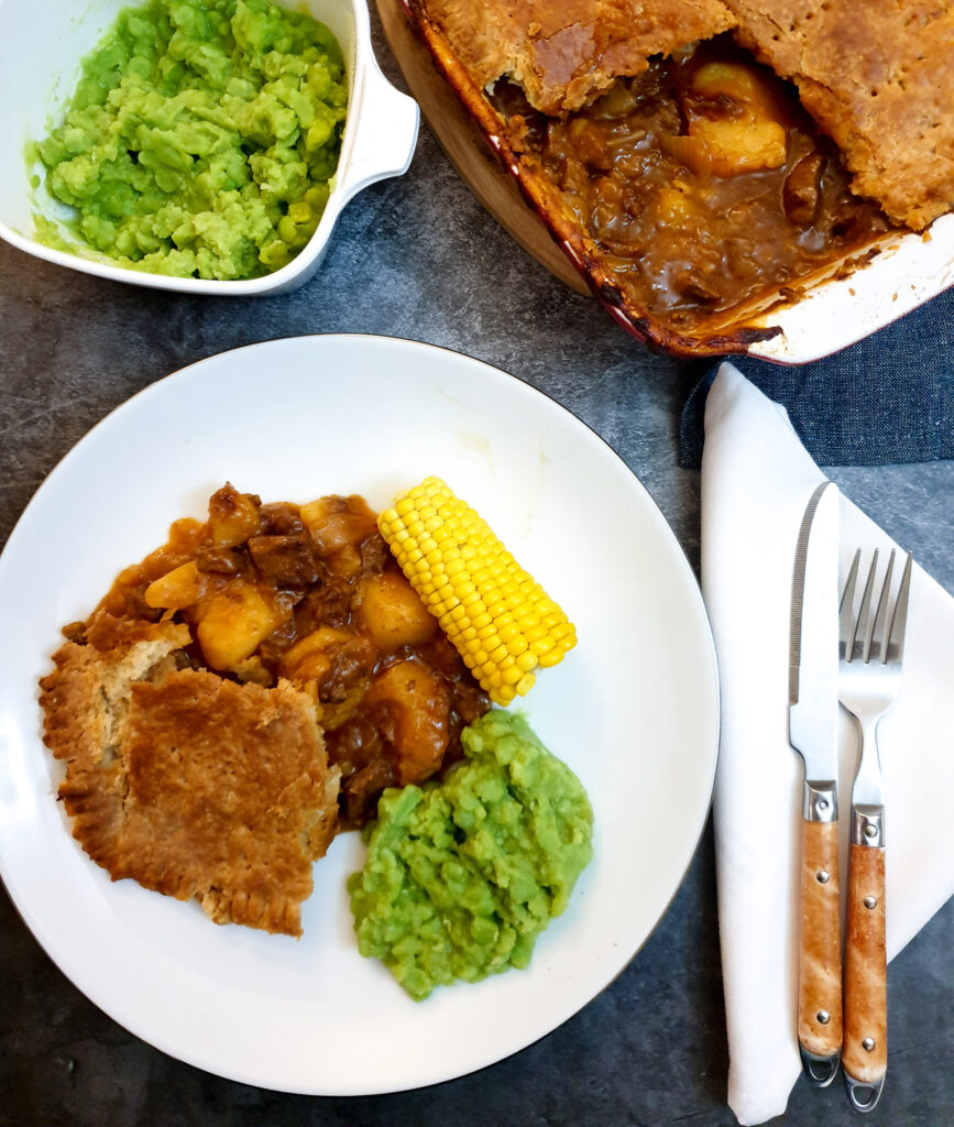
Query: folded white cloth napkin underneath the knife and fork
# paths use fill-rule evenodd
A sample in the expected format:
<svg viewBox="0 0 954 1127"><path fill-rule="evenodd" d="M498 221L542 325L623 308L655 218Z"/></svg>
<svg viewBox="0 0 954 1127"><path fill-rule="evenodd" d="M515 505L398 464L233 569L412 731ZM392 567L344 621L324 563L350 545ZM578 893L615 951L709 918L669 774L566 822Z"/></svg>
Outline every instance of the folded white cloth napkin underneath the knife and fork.
<svg viewBox="0 0 954 1127"><path fill-rule="evenodd" d="M822 480L784 408L723 364L705 409L702 586L722 686L714 820L729 1104L746 1125L781 1115L801 1071L795 1028L803 769L788 743L788 631L799 527ZM844 495L839 516L844 578L856 547L893 544ZM954 894L954 598L917 567L902 684L880 737L891 958ZM842 891L857 754L855 725L842 710Z"/></svg>

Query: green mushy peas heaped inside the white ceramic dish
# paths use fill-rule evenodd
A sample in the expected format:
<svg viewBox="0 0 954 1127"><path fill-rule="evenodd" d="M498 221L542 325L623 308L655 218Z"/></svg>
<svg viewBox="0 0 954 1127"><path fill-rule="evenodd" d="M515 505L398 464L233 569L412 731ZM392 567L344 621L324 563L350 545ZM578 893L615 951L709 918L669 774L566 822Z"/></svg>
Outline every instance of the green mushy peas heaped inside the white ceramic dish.
<svg viewBox="0 0 954 1127"><path fill-rule="evenodd" d="M249 278L318 227L346 108L341 50L311 16L266 0L150 0L83 60L36 150L93 250L157 274ZM37 219L41 239L52 229Z"/></svg>

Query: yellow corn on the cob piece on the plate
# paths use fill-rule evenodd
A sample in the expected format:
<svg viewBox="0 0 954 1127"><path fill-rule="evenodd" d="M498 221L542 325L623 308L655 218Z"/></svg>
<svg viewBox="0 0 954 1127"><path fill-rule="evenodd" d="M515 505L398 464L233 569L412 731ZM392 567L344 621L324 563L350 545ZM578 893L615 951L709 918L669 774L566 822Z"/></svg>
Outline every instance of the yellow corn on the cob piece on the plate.
<svg viewBox="0 0 954 1127"><path fill-rule="evenodd" d="M507 706L577 644L573 624L474 509L426 478L377 518L404 575L465 664Z"/></svg>

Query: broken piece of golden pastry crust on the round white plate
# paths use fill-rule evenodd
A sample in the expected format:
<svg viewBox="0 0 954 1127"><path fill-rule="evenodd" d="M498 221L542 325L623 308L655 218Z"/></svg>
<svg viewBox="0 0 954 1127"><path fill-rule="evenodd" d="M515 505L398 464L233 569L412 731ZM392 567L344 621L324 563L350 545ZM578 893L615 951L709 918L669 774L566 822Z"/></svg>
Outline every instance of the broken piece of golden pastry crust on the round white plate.
<svg viewBox="0 0 954 1127"><path fill-rule="evenodd" d="M99 615L41 682L73 836L114 880L300 935L338 815L312 696L179 668L185 624Z"/></svg>

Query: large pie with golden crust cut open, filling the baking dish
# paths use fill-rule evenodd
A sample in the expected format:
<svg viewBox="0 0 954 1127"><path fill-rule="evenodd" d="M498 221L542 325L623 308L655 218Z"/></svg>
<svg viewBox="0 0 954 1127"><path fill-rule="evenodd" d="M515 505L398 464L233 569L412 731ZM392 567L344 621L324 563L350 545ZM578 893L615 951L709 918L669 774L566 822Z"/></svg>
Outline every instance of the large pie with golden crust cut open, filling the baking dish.
<svg viewBox="0 0 954 1127"><path fill-rule="evenodd" d="M954 206L954 9L874 0L401 0L609 312L670 353Z"/></svg>

